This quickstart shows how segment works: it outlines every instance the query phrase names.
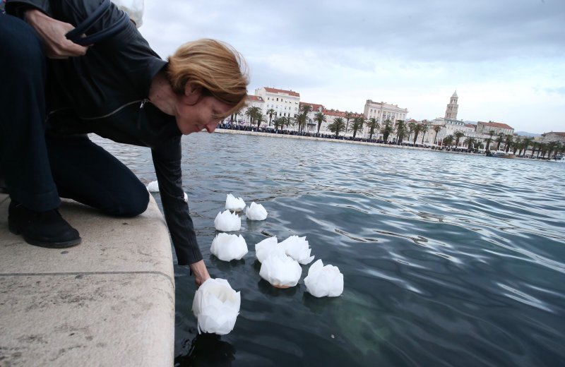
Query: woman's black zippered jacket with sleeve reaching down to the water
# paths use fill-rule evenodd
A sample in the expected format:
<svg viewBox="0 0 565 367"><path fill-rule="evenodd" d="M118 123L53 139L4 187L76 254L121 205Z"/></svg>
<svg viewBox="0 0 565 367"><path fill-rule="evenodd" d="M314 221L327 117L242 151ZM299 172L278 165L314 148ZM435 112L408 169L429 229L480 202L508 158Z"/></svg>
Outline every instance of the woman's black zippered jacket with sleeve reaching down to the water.
<svg viewBox="0 0 565 367"><path fill-rule="evenodd" d="M78 25L99 4L100 0L8 0L6 11L22 16L26 8L37 8ZM120 14L112 4L87 33L107 28ZM151 148L165 220L179 265L187 265L202 260L202 255L182 190L182 134L174 116L148 101L151 81L166 66L133 23L91 46L85 56L49 60L47 128L49 133L96 133Z"/></svg>

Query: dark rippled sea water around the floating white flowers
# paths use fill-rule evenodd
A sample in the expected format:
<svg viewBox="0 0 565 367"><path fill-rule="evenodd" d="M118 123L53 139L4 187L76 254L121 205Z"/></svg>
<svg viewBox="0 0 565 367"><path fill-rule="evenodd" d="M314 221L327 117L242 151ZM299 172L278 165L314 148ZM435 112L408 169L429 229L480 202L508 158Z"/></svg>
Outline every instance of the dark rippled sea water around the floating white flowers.
<svg viewBox="0 0 565 367"><path fill-rule="evenodd" d="M565 164L231 134L183 140L210 275L242 294L234 330L200 335L177 282L177 366L564 366ZM148 150L107 145L143 179ZM227 193L258 200L249 253L210 255ZM158 201L158 194L156 195ZM307 236L343 272L335 299L259 277L254 244Z"/></svg>

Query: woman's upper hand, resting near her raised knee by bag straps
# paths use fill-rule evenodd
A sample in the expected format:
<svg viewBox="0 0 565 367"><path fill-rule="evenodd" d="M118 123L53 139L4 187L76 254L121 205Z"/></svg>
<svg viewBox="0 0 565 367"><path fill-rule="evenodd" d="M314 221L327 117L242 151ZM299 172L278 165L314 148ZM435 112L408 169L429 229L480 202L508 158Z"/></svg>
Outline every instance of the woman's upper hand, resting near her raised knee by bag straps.
<svg viewBox="0 0 565 367"><path fill-rule="evenodd" d="M49 59L67 59L71 56L86 54L88 47L76 44L65 37L66 33L74 29L72 24L50 18L37 9L26 11L25 21L35 29L35 32L42 39L45 53Z"/></svg>

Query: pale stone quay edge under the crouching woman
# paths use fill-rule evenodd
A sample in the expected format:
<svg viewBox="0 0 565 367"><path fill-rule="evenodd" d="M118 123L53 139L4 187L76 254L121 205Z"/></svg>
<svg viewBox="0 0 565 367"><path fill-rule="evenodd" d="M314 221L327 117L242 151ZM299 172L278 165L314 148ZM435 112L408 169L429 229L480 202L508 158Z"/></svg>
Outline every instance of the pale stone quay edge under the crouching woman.
<svg viewBox="0 0 565 367"><path fill-rule="evenodd" d="M8 231L0 193L0 366L172 366L169 234L151 198L135 218L65 202L72 248L30 246Z"/></svg>

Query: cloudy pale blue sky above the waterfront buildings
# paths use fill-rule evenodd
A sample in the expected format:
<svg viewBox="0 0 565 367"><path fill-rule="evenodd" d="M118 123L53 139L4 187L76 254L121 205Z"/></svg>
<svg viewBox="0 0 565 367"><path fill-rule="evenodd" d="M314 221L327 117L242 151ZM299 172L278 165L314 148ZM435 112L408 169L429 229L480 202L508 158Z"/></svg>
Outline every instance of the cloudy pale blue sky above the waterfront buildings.
<svg viewBox="0 0 565 367"><path fill-rule="evenodd" d="M145 0L139 30L164 59L199 38L231 44L251 95L388 102L420 121L457 91L458 119L565 131L565 0Z"/></svg>

